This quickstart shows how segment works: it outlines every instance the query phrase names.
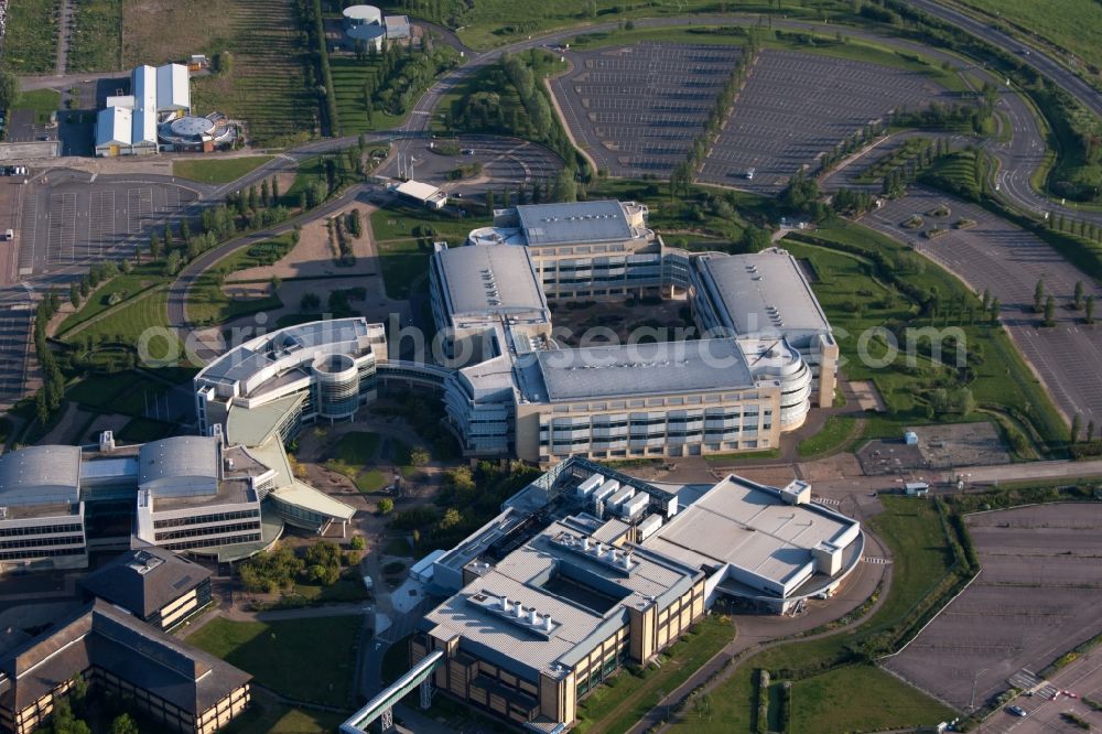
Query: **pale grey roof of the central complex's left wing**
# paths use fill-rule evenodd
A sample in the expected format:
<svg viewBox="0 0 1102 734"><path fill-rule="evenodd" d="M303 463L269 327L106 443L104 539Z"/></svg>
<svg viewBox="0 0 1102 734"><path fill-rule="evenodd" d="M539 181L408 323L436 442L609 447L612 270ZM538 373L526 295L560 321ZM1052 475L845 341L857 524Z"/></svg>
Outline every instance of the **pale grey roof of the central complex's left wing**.
<svg viewBox="0 0 1102 734"><path fill-rule="evenodd" d="M527 247L472 245L434 253L453 315L547 312Z"/></svg>

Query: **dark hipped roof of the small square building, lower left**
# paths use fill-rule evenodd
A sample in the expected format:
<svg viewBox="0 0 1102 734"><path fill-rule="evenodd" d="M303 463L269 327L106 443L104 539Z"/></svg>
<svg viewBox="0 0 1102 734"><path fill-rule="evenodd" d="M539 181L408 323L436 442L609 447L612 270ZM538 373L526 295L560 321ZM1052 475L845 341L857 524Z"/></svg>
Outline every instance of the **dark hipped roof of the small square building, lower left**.
<svg viewBox="0 0 1102 734"><path fill-rule="evenodd" d="M128 551L80 580L89 594L118 604L141 617L180 598L210 572L163 548Z"/></svg>

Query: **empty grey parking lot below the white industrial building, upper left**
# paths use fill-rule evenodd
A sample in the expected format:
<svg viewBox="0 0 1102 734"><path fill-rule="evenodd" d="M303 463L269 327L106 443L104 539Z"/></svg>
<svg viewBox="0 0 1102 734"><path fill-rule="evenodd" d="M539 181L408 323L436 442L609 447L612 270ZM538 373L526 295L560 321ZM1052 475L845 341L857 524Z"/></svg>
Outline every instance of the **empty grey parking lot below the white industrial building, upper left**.
<svg viewBox="0 0 1102 734"><path fill-rule="evenodd" d="M195 203L193 188L119 176L51 174L29 184L22 202L18 276L121 258L153 226Z"/></svg>

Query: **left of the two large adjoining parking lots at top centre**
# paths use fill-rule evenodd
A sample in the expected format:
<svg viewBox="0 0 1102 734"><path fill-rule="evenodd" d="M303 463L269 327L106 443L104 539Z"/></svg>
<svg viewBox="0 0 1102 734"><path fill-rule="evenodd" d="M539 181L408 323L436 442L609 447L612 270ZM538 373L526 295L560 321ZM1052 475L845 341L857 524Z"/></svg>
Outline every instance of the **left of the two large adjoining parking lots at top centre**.
<svg viewBox="0 0 1102 734"><path fill-rule="evenodd" d="M704 129L735 46L640 43L573 52L551 88L575 140L614 176L669 175Z"/></svg>

